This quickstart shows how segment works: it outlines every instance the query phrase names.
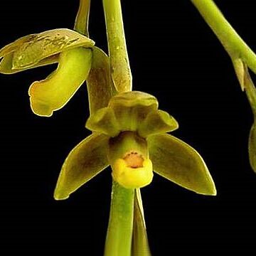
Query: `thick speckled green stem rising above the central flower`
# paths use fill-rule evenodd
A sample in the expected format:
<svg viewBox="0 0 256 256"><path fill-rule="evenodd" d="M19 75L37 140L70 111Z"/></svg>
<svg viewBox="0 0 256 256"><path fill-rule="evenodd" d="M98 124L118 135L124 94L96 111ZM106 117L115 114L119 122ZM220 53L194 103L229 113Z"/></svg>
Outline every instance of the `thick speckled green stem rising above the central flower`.
<svg viewBox="0 0 256 256"><path fill-rule="evenodd" d="M112 80L118 92L132 90L120 0L103 0Z"/></svg>

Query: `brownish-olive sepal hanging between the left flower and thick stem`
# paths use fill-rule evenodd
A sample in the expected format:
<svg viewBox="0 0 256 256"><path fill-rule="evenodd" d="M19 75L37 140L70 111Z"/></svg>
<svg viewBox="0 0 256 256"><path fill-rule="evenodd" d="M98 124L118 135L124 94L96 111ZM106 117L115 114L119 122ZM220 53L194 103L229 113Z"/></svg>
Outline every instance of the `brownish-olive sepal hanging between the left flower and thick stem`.
<svg viewBox="0 0 256 256"><path fill-rule="evenodd" d="M117 94L110 78L110 60L100 48L93 48L92 67L86 82L90 114L107 107L111 97Z"/></svg>

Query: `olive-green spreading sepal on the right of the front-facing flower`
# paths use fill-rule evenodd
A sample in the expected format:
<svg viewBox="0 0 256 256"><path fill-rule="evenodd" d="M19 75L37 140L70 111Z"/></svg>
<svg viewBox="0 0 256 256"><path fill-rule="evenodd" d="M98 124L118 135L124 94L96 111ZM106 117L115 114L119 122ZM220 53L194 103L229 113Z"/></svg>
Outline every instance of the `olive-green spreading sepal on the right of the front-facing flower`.
<svg viewBox="0 0 256 256"><path fill-rule="evenodd" d="M147 142L157 174L196 193L216 195L213 178L195 149L169 134L152 135Z"/></svg>

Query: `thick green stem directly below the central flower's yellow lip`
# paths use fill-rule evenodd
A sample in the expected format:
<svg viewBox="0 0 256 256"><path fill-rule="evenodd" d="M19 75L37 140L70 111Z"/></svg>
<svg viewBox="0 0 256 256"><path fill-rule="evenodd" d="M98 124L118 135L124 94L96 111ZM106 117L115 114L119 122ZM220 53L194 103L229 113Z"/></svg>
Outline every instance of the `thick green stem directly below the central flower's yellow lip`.
<svg viewBox="0 0 256 256"><path fill-rule="evenodd" d="M113 181L105 256L131 256L134 189Z"/></svg>

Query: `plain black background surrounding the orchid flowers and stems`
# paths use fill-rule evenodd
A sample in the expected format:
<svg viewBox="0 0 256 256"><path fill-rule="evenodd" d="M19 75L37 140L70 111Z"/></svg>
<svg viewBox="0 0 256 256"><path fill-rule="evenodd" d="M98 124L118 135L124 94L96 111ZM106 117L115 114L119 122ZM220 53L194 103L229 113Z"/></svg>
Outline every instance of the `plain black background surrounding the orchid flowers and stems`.
<svg viewBox="0 0 256 256"><path fill-rule="evenodd" d="M256 50L255 1L215 2ZM202 154L218 190L216 197L200 196L155 175L142 189L152 254L255 255L256 175L247 156L252 114L228 54L188 0L122 4L134 90L155 95L178 120L174 135ZM73 28L77 7L78 0L1 1L0 46ZM92 1L90 36L107 50L100 0ZM54 68L0 75L1 255L103 254L110 169L67 201L53 199L65 156L89 134L85 86L51 118L31 112L29 85Z"/></svg>

